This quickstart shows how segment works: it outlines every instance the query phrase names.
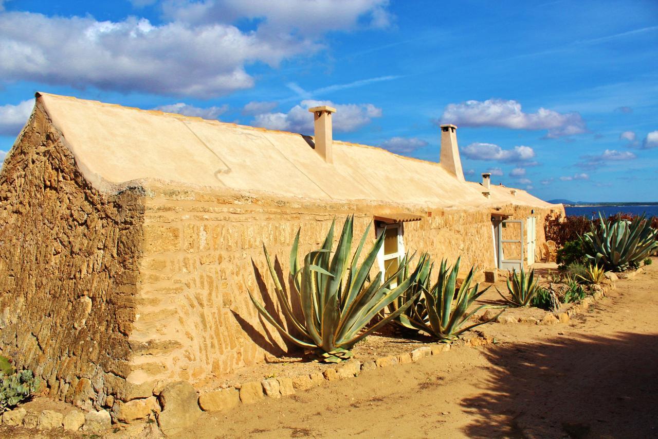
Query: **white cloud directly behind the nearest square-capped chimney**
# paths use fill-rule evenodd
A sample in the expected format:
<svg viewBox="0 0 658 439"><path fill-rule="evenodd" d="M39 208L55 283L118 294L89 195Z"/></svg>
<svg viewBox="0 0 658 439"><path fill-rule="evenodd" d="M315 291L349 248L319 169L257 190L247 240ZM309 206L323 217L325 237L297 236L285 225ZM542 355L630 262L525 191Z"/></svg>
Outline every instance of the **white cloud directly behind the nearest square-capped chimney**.
<svg viewBox="0 0 658 439"><path fill-rule="evenodd" d="M328 105L336 108L332 114L332 125L336 132L356 131L370 123L372 117L381 117L382 109L372 103L334 104L330 101L303 100L295 105L288 113L264 113L254 119L257 127L274 130L313 133L313 115L309 108L319 105Z"/></svg>

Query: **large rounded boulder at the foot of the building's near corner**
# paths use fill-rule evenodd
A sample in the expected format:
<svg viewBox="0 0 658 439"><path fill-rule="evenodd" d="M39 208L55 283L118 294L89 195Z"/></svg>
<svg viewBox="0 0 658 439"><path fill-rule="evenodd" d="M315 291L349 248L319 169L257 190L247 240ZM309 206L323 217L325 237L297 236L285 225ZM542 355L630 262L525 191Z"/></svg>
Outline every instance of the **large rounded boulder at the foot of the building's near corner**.
<svg viewBox="0 0 658 439"><path fill-rule="evenodd" d="M158 424L166 436L178 436L189 430L201 416L197 391L189 382L168 384L159 399L163 411L158 415Z"/></svg>

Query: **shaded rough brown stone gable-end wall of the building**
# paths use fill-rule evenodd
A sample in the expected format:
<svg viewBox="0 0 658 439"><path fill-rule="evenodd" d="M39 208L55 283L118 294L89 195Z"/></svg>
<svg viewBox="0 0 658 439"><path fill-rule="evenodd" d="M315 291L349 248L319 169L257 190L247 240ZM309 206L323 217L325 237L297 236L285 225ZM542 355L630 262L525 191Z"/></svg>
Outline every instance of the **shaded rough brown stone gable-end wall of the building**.
<svg viewBox="0 0 658 439"><path fill-rule="evenodd" d="M99 408L130 372L142 194L91 188L40 108L5 160L0 349L52 397Z"/></svg>

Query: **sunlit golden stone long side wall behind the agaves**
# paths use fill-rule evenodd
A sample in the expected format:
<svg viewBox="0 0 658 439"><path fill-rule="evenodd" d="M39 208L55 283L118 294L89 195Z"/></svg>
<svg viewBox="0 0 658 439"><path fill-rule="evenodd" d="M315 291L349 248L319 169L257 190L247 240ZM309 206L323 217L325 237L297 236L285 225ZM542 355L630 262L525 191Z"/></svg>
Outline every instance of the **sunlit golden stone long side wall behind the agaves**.
<svg viewBox="0 0 658 439"><path fill-rule="evenodd" d="M345 216L355 214L355 236L360 237L373 212L382 207L390 208L149 187L140 265L139 301L144 305L131 334L131 345L139 349L129 380L201 382L286 351L286 344L259 318L247 295L251 291L261 296L257 273L272 291L263 244L272 257L278 256L287 279L290 245L300 226L303 255L324 240L334 216L340 230ZM503 210L512 218L530 215L530 208L503 206ZM493 268L490 208L430 211L431 217L405 223L405 249L428 251L451 262L461 255L464 270L471 264ZM547 212L536 212L540 245ZM276 308L266 299L267 306Z"/></svg>

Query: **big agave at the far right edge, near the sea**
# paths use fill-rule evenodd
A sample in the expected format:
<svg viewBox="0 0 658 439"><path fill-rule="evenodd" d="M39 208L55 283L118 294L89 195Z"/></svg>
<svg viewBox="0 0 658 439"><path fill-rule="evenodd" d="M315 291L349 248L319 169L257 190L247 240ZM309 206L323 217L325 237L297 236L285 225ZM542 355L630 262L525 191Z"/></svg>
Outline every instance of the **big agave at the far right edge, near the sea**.
<svg viewBox="0 0 658 439"><path fill-rule="evenodd" d="M588 260L606 270L620 272L631 266L639 266L651 251L658 248L658 230L651 228L645 216L632 221L617 218L608 221L599 212L598 227L592 224L591 230L582 235L582 240L591 249Z"/></svg>

